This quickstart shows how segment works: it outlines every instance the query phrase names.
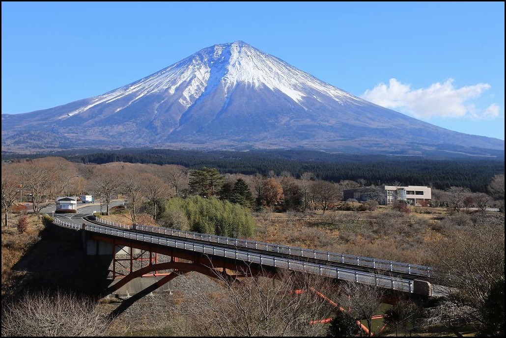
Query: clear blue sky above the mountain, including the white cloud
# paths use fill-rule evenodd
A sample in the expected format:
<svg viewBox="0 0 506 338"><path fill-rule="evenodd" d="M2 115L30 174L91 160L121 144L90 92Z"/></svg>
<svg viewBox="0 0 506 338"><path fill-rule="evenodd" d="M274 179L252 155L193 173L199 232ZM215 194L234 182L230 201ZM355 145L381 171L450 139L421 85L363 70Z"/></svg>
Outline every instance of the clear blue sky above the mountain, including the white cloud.
<svg viewBox="0 0 506 338"><path fill-rule="evenodd" d="M2 2L2 113L243 40L355 96L504 140L504 2Z"/></svg>

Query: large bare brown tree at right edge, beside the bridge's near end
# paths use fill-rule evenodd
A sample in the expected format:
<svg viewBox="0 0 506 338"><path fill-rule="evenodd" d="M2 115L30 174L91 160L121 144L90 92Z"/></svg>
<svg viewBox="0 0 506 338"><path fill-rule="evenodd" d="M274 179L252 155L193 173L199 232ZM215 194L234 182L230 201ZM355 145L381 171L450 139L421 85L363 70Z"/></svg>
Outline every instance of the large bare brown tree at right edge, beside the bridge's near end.
<svg viewBox="0 0 506 338"><path fill-rule="evenodd" d="M493 285L504 281L504 218L484 214L471 227L449 229L433 251L437 284L447 297L428 320L444 319L448 327L469 321L486 325L480 309Z"/></svg>

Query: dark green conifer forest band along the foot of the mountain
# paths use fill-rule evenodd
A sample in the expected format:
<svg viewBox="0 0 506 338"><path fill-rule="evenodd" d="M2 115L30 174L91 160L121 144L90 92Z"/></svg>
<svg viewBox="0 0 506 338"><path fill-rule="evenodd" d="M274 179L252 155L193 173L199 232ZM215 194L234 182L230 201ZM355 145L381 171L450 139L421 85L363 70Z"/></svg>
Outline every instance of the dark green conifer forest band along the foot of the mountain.
<svg viewBox="0 0 506 338"><path fill-rule="evenodd" d="M35 155L41 156L41 155ZM423 185L445 190L467 187L486 192L490 178L504 174L504 158L421 158L406 156L347 155L309 150L197 151L170 149L123 149L114 151L61 152L72 162L105 164L128 162L141 164L175 164L189 169L214 167L221 174L280 175L289 172L300 177L306 172L316 178L339 182L365 180L367 185L384 185L398 181L402 185ZM14 155L3 159L14 158Z"/></svg>

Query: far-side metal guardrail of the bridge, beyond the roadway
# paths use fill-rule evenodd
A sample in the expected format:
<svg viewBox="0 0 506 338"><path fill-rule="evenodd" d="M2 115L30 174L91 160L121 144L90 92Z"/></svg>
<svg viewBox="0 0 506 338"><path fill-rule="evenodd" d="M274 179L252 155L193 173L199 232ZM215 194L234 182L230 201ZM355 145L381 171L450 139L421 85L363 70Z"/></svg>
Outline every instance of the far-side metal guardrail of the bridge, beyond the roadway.
<svg viewBox="0 0 506 338"><path fill-rule="evenodd" d="M184 238L205 240L208 242L215 242L215 243L235 245L235 246L243 246L243 247L257 249L257 250L278 252L279 254L287 254L287 255L299 256L299 257L303 257L303 258L314 258L314 259L324 260L324 261L328 261L328 262L332 262L332 263L350 264L350 265L356 265L356 266L366 267L366 268L371 268L371 269L400 272L400 273L405 273L405 274L410 274L410 275L415 275L415 276L431 277L431 272L433 271L433 268L423 266L423 265L401 263L401 262L394 262L394 261L387 261L387 260L378 260L378 259L369 258L369 257L337 254L335 252L329 252L329 251L305 249L305 248L295 247L295 246L264 243L264 242L254 241L254 240L224 237L224 236L217 236L217 235L210 235L210 234L201 234L201 233L197 233L197 232L182 231L182 230L169 229L169 228L163 228L163 227L152 227L152 226L139 225L139 224L134 225L134 226L123 225L123 224L118 225L117 223L110 222L108 220L102 220L99 218L95 218L95 220L99 223L102 223L102 224L117 226L117 227L120 227L123 229L143 230L143 231L149 231L149 232L160 233L160 234L162 233L162 234L171 235L171 236L179 236L179 237L184 237Z"/></svg>

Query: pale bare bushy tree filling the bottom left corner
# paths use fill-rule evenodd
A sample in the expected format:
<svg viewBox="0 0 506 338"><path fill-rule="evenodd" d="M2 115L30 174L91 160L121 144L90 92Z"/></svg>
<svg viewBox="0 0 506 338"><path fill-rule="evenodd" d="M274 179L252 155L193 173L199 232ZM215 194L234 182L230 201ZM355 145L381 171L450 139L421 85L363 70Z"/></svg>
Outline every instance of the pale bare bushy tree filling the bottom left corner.
<svg viewBox="0 0 506 338"><path fill-rule="evenodd" d="M93 300L57 293L25 293L3 304L4 336L103 336L109 322Z"/></svg>

